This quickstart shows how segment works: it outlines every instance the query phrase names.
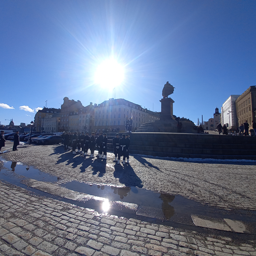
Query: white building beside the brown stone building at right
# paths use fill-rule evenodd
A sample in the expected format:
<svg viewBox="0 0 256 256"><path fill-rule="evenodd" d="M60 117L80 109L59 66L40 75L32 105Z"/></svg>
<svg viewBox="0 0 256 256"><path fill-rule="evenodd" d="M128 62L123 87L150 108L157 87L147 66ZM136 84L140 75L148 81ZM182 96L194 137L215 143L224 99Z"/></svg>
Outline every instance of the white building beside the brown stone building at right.
<svg viewBox="0 0 256 256"><path fill-rule="evenodd" d="M238 122L237 122L235 102L239 96L240 95L230 95L228 99L222 104L222 107L221 107L221 125L222 126L226 124L226 126L229 127L229 120L230 120L231 129L237 128Z"/></svg>

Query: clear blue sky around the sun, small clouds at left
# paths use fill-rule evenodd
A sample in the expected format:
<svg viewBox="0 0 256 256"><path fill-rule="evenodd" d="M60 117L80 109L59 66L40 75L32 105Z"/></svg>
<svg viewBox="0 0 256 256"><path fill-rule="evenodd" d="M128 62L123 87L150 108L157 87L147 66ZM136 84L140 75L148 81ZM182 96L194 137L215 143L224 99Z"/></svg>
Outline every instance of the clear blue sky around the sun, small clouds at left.
<svg viewBox="0 0 256 256"><path fill-rule="evenodd" d="M0 121L114 98L94 81L111 57L125 68L116 98L161 111L169 81L173 114L208 120L256 85L255 14L256 1L1 1Z"/></svg>

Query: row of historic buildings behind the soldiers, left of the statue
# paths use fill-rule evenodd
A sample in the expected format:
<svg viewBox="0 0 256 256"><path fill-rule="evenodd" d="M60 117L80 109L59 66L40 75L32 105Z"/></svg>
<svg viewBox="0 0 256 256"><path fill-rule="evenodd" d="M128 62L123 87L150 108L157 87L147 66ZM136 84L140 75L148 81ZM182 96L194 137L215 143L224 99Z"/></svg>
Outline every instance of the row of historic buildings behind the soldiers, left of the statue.
<svg viewBox="0 0 256 256"><path fill-rule="evenodd" d="M125 99L109 99L100 104L90 102L83 106L81 101L65 97L60 109L43 108L35 115L35 130L43 132L124 132L127 120L132 120L132 130L141 124L159 120L160 113Z"/></svg>

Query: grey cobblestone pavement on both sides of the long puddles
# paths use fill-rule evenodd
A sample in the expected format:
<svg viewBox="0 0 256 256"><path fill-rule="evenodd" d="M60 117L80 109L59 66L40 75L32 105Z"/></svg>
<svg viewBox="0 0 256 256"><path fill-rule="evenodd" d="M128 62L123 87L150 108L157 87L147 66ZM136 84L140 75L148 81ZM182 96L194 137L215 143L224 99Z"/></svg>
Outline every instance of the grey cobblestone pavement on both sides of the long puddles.
<svg viewBox="0 0 256 256"><path fill-rule="evenodd" d="M111 153L103 164L72 155L61 146L18 149L2 157L60 177L58 183L76 180L137 186L221 209L255 211L253 164L193 163L135 155L130 157L130 167L115 167ZM3 182L0 195L0 256L256 255L252 236L249 240L233 239L231 232L219 236L107 216Z"/></svg>

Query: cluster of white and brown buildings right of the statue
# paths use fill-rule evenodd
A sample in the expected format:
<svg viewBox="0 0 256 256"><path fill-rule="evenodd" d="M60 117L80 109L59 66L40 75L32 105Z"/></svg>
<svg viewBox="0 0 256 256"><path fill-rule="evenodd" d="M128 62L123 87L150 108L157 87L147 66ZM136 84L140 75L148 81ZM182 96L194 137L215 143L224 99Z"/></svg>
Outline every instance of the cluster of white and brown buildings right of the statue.
<svg viewBox="0 0 256 256"><path fill-rule="evenodd" d="M216 109L214 118L204 122L204 129L215 130L221 123L235 131L245 121L249 123L249 129L252 129L252 121L256 121L256 86L250 86L241 95L230 95L222 104L221 113L216 113Z"/></svg>

